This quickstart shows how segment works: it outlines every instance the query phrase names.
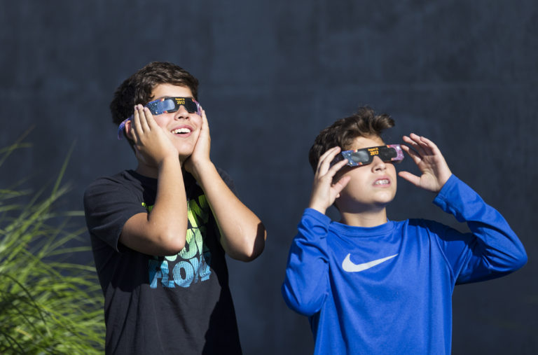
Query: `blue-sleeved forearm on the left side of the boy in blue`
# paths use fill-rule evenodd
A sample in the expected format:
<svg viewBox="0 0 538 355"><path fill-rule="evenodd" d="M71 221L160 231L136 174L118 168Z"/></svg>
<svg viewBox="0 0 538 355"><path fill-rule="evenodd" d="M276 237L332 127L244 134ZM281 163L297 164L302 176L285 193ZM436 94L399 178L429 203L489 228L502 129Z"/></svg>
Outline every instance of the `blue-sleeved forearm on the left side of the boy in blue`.
<svg viewBox="0 0 538 355"><path fill-rule="evenodd" d="M305 210L291 243L282 296L296 312L310 316L321 309L328 292L326 235L330 218Z"/></svg>

